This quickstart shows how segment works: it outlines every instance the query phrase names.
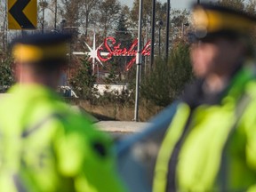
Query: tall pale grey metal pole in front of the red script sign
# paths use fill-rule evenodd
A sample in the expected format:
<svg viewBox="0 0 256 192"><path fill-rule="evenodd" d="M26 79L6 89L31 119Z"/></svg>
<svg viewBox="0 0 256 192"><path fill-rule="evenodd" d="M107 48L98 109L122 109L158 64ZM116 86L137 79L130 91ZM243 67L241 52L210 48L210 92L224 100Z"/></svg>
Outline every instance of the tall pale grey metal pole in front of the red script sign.
<svg viewBox="0 0 256 192"><path fill-rule="evenodd" d="M139 121L139 92L140 92L140 68L141 68L141 17L142 17L142 4L143 0L140 0L140 10L139 10L139 26L138 26L138 46L136 54L136 97L135 97L135 111L134 111L134 121Z"/></svg>

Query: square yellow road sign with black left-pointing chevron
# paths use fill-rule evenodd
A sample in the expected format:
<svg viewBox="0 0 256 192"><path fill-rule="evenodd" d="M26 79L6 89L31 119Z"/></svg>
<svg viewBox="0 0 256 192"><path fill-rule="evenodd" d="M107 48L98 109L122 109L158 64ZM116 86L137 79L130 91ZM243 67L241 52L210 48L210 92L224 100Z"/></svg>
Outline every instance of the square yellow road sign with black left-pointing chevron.
<svg viewBox="0 0 256 192"><path fill-rule="evenodd" d="M36 0L8 0L9 29L34 29L36 25Z"/></svg>

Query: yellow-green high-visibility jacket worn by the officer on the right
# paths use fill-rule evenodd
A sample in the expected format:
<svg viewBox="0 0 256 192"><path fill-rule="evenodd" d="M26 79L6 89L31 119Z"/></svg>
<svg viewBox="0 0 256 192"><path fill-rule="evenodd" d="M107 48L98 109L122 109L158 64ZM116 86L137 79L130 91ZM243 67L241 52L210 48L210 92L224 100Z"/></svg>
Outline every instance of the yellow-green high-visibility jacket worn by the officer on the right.
<svg viewBox="0 0 256 192"><path fill-rule="evenodd" d="M253 68L241 69L220 104L202 105L193 111L186 103L180 104L159 149L154 192L164 192L170 185L172 163L176 191L256 189L254 72Z"/></svg>

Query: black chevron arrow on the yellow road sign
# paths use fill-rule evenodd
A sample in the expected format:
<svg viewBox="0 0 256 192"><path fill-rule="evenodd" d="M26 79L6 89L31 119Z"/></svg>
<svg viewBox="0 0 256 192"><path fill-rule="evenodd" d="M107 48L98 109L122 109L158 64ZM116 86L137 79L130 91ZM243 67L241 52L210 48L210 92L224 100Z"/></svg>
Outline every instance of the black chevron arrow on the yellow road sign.
<svg viewBox="0 0 256 192"><path fill-rule="evenodd" d="M30 0L18 0L13 4L10 9L12 17L20 24L21 28L35 28L35 26L28 20L27 16L24 14L23 9L28 5Z"/></svg>

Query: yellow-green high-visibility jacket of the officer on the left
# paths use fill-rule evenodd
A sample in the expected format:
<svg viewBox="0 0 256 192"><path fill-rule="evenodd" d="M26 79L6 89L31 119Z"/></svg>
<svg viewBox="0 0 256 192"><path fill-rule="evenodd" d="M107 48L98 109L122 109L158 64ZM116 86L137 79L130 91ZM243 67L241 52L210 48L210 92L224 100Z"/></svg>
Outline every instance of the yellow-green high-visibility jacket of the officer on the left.
<svg viewBox="0 0 256 192"><path fill-rule="evenodd" d="M124 191L112 140L40 85L0 100L0 191Z"/></svg>

